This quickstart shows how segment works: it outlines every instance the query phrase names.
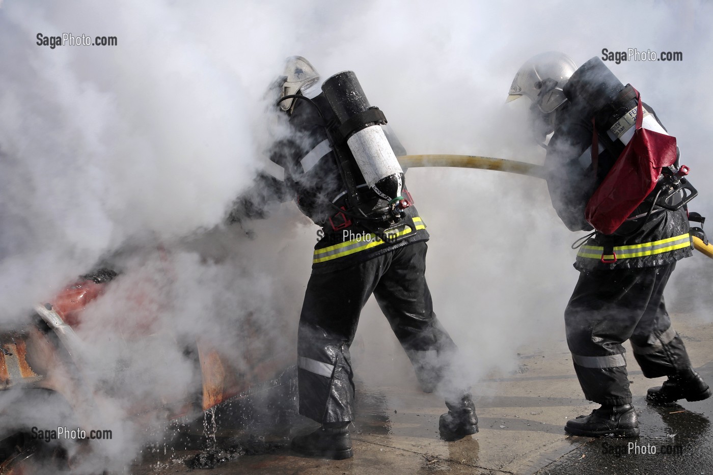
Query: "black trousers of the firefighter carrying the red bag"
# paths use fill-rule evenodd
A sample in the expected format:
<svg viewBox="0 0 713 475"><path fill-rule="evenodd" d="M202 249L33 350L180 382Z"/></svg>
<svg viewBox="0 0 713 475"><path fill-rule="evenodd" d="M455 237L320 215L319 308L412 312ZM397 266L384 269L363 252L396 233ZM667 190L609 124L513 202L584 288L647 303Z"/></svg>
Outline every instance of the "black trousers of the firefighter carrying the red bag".
<svg viewBox="0 0 713 475"><path fill-rule="evenodd" d="M622 347L627 339L647 378L690 366L663 298L675 265L581 272L565 310L565 327L575 372L590 401L631 404Z"/></svg>

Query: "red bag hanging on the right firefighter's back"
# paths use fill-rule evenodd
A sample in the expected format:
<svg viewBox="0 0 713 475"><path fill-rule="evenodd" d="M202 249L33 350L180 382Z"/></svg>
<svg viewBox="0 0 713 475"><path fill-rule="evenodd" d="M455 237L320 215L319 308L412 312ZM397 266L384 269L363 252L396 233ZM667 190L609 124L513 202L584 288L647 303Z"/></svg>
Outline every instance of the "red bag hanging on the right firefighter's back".
<svg viewBox="0 0 713 475"><path fill-rule="evenodd" d="M634 91L637 100L634 136L585 209L587 222L605 235L614 233L654 190L661 169L676 162L676 138L642 128L641 97L639 91ZM595 173L598 153L597 129L594 128L592 162Z"/></svg>

